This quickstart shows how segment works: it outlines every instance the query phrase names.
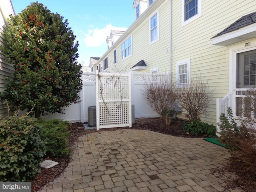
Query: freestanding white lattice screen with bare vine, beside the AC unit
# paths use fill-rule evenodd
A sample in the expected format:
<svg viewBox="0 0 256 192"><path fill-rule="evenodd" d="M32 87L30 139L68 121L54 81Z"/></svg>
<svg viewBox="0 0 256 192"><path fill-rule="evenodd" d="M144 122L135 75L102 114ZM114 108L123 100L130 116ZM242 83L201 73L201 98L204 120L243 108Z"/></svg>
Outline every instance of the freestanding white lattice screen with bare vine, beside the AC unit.
<svg viewBox="0 0 256 192"><path fill-rule="evenodd" d="M132 127L131 74L96 76L96 127Z"/></svg>

